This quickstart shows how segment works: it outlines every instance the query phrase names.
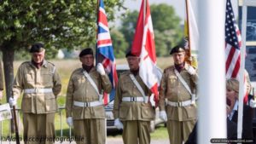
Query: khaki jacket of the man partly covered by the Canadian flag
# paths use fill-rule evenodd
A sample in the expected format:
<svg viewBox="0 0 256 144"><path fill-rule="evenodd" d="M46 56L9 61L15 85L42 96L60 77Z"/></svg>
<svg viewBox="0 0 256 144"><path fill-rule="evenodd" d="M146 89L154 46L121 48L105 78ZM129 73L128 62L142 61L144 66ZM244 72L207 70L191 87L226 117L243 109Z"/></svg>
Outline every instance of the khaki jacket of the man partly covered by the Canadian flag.
<svg viewBox="0 0 256 144"><path fill-rule="evenodd" d="M126 102L123 97L143 97L137 86L130 78L131 72L124 72L119 77L119 84L113 103L113 117L120 120L143 120L154 119L154 110L150 102ZM138 84L141 85L146 96L151 95L150 89L143 83L142 78L135 76Z"/></svg>

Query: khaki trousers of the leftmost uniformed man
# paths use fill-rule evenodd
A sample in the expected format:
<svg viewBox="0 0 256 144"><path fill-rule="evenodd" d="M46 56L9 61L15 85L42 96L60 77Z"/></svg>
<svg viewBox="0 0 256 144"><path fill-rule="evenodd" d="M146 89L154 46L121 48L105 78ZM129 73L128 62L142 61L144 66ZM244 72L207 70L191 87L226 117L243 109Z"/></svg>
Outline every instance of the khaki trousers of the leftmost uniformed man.
<svg viewBox="0 0 256 144"><path fill-rule="evenodd" d="M55 143L55 112L23 113L24 142L26 144Z"/></svg>

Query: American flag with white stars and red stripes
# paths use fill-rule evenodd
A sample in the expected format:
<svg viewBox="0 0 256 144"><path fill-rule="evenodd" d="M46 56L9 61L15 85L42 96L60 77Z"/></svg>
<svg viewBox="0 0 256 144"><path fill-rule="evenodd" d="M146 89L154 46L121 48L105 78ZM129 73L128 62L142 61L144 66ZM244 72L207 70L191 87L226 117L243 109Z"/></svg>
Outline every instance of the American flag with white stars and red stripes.
<svg viewBox="0 0 256 144"><path fill-rule="evenodd" d="M241 33L236 25L235 15L230 0L226 4L225 19L225 55L226 55L226 78L239 80L238 72L241 62ZM247 102L247 83L244 81L244 102Z"/></svg>

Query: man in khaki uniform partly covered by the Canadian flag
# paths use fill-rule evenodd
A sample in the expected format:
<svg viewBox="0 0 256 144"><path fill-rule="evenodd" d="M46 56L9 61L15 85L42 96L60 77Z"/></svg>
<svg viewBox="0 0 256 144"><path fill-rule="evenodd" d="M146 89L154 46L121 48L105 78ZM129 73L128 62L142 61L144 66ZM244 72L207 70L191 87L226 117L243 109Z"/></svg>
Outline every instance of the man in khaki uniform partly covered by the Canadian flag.
<svg viewBox="0 0 256 144"><path fill-rule="evenodd" d="M119 77L113 104L114 125L124 129L125 144L149 144L150 121L154 120L154 109L148 96L151 92L139 76L140 58L128 52L126 59L130 71Z"/></svg>

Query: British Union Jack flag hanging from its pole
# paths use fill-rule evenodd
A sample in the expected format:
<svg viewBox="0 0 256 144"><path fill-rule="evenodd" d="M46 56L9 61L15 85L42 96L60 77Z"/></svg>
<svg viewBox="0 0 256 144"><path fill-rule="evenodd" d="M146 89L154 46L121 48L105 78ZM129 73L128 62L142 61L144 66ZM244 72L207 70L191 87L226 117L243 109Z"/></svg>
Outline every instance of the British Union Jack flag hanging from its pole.
<svg viewBox="0 0 256 144"><path fill-rule="evenodd" d="M113 45L108 29L108 19L104 9L103 0L99 0L97 26L96 60L97 62L101 62L104 66L113 86L111 95L104 94L104 104L107 105L108 102L113 101L114 99L113 93L118 82L118 75L116 72Z"/></svg>

